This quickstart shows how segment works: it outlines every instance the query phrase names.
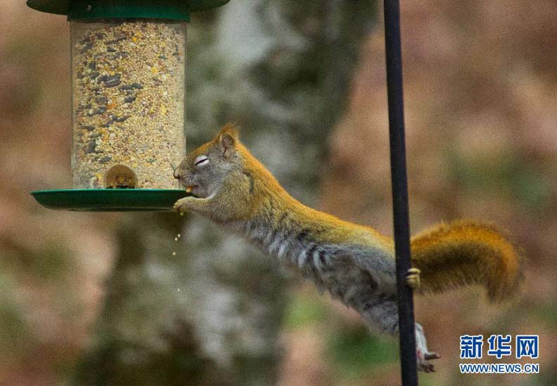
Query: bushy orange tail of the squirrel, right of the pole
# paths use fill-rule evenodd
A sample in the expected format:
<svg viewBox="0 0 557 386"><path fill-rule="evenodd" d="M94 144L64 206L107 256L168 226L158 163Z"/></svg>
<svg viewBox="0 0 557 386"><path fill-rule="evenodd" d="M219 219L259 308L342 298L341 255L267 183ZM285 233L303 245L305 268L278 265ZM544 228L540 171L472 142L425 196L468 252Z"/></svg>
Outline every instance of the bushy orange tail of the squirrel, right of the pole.
<svg viewBox="0 0 557 386"><path fill-rule="evenodd" d="M516 293L523 278L518 249L491 225L441 224L417 234L411 245L424 293L480 284L497 302Z"/></svg>

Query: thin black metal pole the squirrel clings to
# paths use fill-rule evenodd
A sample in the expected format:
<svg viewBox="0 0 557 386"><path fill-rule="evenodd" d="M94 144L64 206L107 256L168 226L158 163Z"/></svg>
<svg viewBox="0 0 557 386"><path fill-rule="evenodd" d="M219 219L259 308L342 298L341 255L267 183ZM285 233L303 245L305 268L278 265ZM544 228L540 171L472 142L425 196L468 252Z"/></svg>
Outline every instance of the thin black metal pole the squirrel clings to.
<svg viewBox="0 0 557 386"><path fill-rule="evenodd" d="M410 260L408 225L408 187L404 104L402 91L402 54L400 49L400 7L398 0L384 0L385 48L387 60L388 126L391 144L391 180L393 182L393 218L395 225L396 278L398 288L398 327L402 385L418 385L414 300L406 285Z"/></svg>

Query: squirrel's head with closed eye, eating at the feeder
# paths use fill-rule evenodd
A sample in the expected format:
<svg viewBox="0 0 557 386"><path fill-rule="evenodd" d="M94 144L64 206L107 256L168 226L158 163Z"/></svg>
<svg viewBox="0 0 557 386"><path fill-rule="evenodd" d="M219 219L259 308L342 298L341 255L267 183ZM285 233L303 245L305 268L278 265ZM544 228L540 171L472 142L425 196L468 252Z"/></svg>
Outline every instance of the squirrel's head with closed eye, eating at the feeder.
<svg viewBox="0 0 557 386"><path fill-rule="evenodd" d="M196 197L213 197L225 182L242 167L238 147L240 136L233 124L225 125L211 142L188 154L174 171L186 192Z"/></svg>

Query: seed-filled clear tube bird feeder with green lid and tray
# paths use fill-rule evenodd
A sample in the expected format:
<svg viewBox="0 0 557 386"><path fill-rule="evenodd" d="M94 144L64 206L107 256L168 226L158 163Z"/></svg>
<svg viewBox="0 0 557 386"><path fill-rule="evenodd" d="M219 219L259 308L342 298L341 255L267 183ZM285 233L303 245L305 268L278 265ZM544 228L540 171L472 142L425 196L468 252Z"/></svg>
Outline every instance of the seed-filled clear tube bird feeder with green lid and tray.
<svg viewBox="0 0 557 386"><path fill-rule="evenodd" d="M228 0L27 0L67 15L72 189L32 192L71 211L166 211L185 196L185 43L190 12Z"/></svg>

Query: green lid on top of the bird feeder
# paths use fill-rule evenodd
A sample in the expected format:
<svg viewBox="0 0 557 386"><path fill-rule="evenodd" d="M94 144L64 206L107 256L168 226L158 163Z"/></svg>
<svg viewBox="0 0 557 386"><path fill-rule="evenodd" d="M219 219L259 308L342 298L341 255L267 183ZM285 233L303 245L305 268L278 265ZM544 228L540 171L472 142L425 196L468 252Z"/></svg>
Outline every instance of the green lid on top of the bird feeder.
<svg viewBox="0 0 557 386"><path fill-rule="evenodd" d="M190 21L190 12L223 6L229 0L27 0L27 6L72 19L155 18Z"/></svg>

